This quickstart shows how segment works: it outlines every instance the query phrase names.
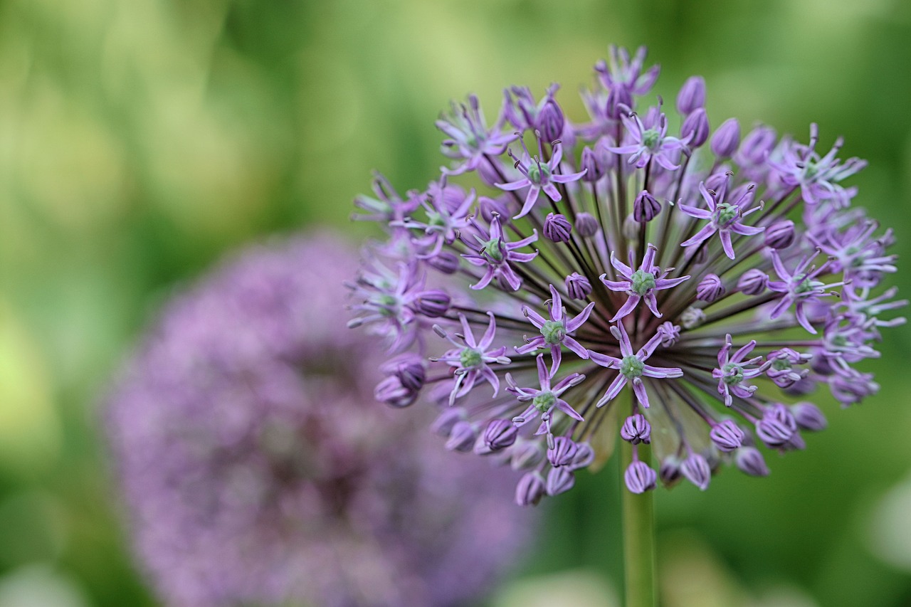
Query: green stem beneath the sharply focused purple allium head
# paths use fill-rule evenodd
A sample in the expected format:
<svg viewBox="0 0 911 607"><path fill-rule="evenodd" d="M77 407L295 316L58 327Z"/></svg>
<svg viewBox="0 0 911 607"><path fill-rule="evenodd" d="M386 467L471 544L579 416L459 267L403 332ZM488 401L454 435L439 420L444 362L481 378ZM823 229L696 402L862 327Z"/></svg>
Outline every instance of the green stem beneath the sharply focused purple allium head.
<svg viewBox="0 0 911 607"><path fill-rule="evenodd" d="M639 445L640 460L649 463L651 449ZM632 445L620 441L620 494L623 502L623 562L626 578L626 607L655 607L655 516L654 491L639 495L623 486L623 471L632 461Z"/></svg>

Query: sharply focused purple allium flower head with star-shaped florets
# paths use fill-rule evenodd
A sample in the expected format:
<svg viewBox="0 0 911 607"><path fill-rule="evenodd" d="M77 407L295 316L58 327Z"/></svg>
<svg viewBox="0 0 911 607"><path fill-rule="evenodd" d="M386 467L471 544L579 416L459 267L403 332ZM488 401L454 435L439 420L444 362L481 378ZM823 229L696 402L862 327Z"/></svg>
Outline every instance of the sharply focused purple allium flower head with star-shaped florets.
<svg viewBox="0 0 911 607"><path fill-rule="evenodd" d="M351 324L394 355L376 396L438 405L446 448L521 471L519 504L570 489L617 432L633 492L706 489L722 463L764 476L763 448L826 426L812 398L875 394L857 364L904 322L882 317L906 304L880 287L892 231L844 183L865 161L815 124L712 131L703 79L666 108L644 59L611 48L581 122L556 85L508 88L492 124L454 104L426 190L377 176L355 201L388 234L351 285Z"/></svg>

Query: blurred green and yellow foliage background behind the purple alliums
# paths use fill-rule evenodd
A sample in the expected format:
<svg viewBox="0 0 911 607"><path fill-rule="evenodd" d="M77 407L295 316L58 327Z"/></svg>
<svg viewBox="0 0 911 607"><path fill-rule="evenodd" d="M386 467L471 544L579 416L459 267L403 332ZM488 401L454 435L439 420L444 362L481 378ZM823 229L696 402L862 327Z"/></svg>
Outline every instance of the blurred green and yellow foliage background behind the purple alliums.
<svg viewBox="0 0 911 607"><path fill-rule="evenodd" d="M100 432L107 379L175 285L233 247L331 224L382 170L424 188L433 122L476 92L576 91L609 43L656 92L869 159L858 204L911 242L906 0L0 1L0 607L157 604L131 564ZM911 269L896 283L911 293ZM339 277L343 280L345 277ZM911 604L911 333L805 452L660 490L669 607ZM610 605L618 474L552 502L491 604Z"/></svg>

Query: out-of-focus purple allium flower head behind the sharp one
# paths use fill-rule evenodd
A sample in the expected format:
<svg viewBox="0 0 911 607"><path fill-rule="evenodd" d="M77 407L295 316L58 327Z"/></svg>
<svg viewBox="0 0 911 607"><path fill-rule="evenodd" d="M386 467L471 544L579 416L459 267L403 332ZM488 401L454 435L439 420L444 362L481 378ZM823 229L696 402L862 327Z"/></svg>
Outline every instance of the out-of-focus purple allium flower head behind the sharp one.
<svg viewBox="0 0 911 607"><path fill-rule="evenodd" d="M356 267L329 236L241 252L168 304L112 391L138 560L169 605L457 605L517 560L534 521L512 472L374 400L383 356L344 326Z"/></svg>

